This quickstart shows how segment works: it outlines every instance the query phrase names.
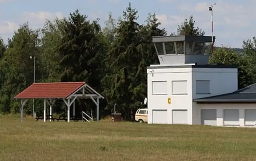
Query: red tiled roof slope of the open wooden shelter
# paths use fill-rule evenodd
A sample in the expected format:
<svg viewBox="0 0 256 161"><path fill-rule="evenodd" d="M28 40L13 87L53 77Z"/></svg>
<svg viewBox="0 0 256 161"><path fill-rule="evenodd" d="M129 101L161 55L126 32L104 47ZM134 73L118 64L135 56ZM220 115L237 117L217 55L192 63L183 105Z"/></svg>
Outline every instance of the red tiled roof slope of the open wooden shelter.
<svg viewBox="0 0 256 161"><path fill-rule="evenodd" d="M85 82L33 83L14 98L67 98Z"/></svg>

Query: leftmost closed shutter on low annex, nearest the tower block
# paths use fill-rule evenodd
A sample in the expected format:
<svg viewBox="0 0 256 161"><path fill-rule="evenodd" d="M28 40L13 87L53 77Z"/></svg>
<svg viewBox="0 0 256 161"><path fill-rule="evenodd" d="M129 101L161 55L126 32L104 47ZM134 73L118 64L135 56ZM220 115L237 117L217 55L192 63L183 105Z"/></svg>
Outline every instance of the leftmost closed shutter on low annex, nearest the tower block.
<svg viewBox="0 0 256 161"><path fill-rule="evenodd" d="M213 110L201 110L201 125L217 125L217 111Z"/></svg>

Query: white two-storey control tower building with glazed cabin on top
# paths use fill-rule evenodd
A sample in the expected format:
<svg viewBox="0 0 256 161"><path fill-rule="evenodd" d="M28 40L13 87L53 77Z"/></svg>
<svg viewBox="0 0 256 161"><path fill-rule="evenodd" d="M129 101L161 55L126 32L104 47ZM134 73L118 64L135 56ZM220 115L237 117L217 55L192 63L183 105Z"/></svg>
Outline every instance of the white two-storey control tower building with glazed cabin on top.
<svg viewBox="0 0 256 161"><path fill-rule="evenodd" d="M237 90L237 68L208 64L210 55L205 44L212 42L211 36L152 39L160 64L147 67L149 124L201 124L202 108L194 99Z"/></svg>

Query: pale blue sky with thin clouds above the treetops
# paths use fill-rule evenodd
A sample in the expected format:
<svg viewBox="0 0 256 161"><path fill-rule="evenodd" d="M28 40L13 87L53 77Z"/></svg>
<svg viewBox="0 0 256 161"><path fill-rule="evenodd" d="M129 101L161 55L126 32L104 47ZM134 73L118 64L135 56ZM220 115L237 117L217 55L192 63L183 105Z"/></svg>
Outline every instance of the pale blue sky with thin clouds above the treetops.
<svg viewBox="0 0 256 161"><path fill-rule="evenodd" d="M0 36L7 42L19 25L28 22L32 29L42 28L46 19L68 17L78 9L90 20L100 18L104 27L111 12L115 19L122 16L129 2L138 10L139 23L148 13L155 13L168 33L177 32L177 25L194 16L196 26L211 35L213 6L216 46L242 47L243 40L256 35L256 0L0 0Z"/></svg>

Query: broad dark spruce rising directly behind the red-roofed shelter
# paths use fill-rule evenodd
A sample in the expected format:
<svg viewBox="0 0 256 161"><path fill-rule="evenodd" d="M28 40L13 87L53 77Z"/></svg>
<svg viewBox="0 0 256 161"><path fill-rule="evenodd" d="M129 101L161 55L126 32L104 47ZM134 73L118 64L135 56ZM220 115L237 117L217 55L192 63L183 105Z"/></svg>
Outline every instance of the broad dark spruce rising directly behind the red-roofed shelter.
<svg viewBox="0 0 256 161"><path fill-rule="evenodd" d="M100 80L103 77L105 58L103 34L97 21L90 22L86 15L76 10L70 13L68 19L63 19L60 28L61 38L58 42L57 53L60 53L60 81L76 82L85 81L97 91L101 91ZM78 110L86 107L93 107L92 101L82 101L77 104ZM92 108L95 112L96 108Z"/></svg>

